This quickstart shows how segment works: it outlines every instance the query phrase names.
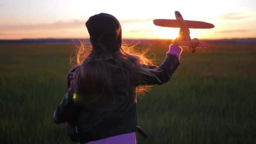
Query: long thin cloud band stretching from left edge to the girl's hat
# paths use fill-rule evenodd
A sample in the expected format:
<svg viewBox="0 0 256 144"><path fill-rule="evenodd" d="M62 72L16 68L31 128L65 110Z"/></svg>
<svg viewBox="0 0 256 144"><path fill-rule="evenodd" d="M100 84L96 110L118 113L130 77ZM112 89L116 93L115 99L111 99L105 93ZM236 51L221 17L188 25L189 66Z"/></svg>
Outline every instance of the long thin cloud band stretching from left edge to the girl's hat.
<svg viewBox="0 0 256 144"><path fill-rule="evenodd" d="M54 23L39 23L39 24L17 24L17 25L3 25L0 24L0 30L42 30L42 29L68 29L85 26L85 21L73 20L73 21L56 21Z"/></svg>

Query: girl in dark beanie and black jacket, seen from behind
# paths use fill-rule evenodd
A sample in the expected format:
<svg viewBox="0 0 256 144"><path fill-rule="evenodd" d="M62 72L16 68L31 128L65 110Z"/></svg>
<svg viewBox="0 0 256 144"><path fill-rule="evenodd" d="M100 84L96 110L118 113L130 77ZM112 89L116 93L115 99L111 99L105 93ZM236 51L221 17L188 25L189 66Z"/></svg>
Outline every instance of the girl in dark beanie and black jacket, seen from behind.
<svg viewBox="0 0 256 144"><path fill-rule="evenodd" d="M162 85L171 78L182 51L177 43L184 36L180 33L157 67L144 54L133 54L132 48L122 46L121 25L114 16L99 13L85 25L92 49L76 67L54 121L68 122L70 140L81 144L136 144L135 131L147 137L137 126L137 92L147 90L144 85Z"/></svg>

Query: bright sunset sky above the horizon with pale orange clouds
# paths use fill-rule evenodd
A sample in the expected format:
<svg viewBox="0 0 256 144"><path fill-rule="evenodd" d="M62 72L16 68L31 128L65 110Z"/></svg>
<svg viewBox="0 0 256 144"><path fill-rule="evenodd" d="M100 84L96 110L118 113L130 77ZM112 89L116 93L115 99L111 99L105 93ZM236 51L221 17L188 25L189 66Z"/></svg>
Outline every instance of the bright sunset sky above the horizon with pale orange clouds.
<svg viewBox="0 0 256 144"><path fill-rule="evenodd" d="M191 38L256 38L256 0L1 0L0 39L89 38L85 22L109 13L121 23L126 39L174 39L178 28L155 26L154 19L213 23L190 29Z"/></svg>

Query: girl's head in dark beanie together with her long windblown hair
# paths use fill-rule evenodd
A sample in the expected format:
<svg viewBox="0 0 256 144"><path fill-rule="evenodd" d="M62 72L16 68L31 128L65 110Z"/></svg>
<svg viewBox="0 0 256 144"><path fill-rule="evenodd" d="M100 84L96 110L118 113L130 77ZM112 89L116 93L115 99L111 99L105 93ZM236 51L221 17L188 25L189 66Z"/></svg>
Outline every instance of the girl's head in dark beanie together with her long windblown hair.
<svg viewBox="0 0 256 144"><path fill-rule="evenodd" d="M148 79L158 79L153 74L157 70L149 67L154 65L154 60L147 55L149 49L138 51L135 45L123 43L120 23L108 13L91 16L85 25L92 46L84 41L76 45L76 62L80 66L71 84L74 92L92 99L104 92L113 98L113 93L118 92L112 87L111 74L117 72L126 82L131 102L136 102L137 93L150 90L150 86L144 85Z"/></svg>

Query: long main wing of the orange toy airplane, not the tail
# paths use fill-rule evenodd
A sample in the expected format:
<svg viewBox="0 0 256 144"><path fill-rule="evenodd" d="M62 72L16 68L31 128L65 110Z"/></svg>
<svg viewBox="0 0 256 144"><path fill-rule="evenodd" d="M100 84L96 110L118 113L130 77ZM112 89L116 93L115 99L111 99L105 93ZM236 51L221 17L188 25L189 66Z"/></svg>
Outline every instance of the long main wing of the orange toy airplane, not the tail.
<svg viewBox="0 0 256 144"><path fill-rule="evenodd" d="M191 29L211 29L214 27L211 23L194 21L194 20L184 20L187 28ZM179 20L167 20L167 19L156 19L153 20L153 23L156 26L164 26L164 27L181 27L181 23Z"/></svg>

